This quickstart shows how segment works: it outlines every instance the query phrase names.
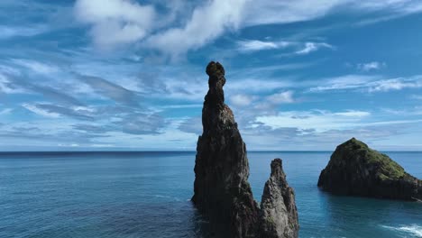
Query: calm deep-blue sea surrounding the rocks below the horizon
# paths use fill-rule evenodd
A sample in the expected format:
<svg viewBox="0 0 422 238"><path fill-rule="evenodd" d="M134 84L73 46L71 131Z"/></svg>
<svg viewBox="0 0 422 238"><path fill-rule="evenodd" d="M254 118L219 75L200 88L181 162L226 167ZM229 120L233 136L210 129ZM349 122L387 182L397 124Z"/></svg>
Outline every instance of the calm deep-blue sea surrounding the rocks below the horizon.
<svg viewBox="0 0 422 238"><path fill-rule="evenodd" d="M281 158L300 237L422 237L421 203L318 190L330 153L250 152L255 199ZM422 152L387 154L422 178ZM208 237L194 165L195 152L0 153L0 237Z"/></svg>

